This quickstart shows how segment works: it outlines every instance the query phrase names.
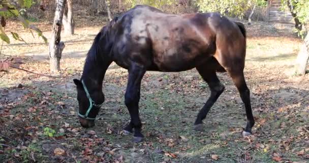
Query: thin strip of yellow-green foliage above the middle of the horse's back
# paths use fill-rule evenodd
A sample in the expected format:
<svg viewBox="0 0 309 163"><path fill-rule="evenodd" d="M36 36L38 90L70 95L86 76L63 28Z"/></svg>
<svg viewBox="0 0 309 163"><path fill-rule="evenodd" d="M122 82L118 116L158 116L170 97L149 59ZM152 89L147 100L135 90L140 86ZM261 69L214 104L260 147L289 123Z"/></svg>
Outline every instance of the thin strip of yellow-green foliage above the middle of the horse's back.
<svg viewBox="0 0 309 163"><path fill-rule="evenodd" d="M161 8L165 5L172 5L176 0L126 0L127 4L131 4L133 8L136 5L149 5L156 8Z"/></svg>

